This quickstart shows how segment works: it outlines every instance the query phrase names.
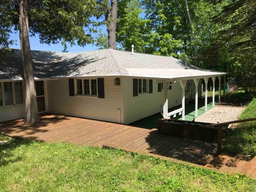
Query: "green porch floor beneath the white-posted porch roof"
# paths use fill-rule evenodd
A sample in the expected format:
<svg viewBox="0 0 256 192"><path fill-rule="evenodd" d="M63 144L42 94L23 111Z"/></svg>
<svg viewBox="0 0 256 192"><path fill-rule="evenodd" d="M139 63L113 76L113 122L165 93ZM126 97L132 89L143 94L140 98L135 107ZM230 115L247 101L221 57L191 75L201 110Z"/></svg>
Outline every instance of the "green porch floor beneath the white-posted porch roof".
<svg viewBox="0 0 256 192"><path fill-rule="evenodd" d="M215 105L218 105L218 103L215 103ZM177 106L174 108L169 109L168 111L171 112L175 109L179 109L181 106ZM212 109L212 102L208 103L207 109L210 110ZM204 114L204 99L198 100L198 116ZM143 119L140 119L138 121L135 121L131 123L130 125L133 126L138 126L138 127L145 127L148 129L153 129L157 128L157 121L158 119L163 118L161 113L157 113L148 117L145 117ZM173 117L172 117L173 118ZM174 119L181 119L181 115L178 115ZM186 106L185 106L185 120L186 121L193 121L195 118L195 101L190 101Z"/></svg>

